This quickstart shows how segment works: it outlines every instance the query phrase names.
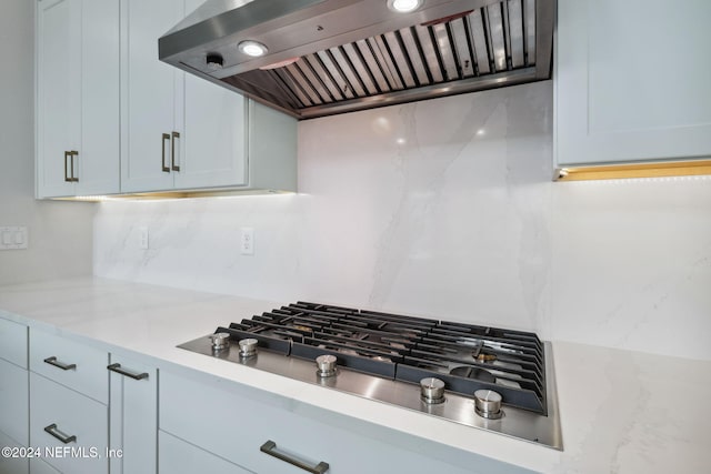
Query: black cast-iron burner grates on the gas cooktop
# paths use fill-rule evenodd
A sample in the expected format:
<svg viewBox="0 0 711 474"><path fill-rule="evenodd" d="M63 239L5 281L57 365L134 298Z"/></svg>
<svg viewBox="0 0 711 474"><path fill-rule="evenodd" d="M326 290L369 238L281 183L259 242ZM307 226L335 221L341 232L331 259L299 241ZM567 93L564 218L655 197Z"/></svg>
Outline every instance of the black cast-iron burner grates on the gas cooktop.
<svg viewBox="0 0 711 474"><path fill-rule="evenodd" d="M218 327L234 343L419 383L434 376L471 396L489 389L509 406L547 414L544 345L534 333L298 302Z"/></svg>

